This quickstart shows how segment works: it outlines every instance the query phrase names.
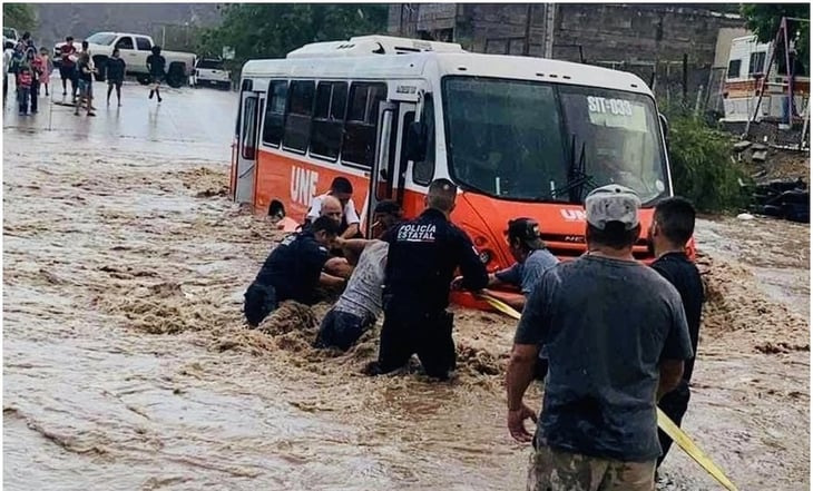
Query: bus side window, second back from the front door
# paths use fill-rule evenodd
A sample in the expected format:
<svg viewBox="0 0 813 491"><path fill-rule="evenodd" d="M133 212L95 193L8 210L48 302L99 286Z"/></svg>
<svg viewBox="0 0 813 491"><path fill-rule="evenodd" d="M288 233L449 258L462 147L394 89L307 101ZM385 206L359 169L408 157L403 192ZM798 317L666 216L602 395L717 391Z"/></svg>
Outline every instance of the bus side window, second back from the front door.
<svg viewBox="0 0 813 491"><path fill-rule="evenodd" d="M347 82L320 82L311 132L311 154L336 161L342 146Z"/></svg>

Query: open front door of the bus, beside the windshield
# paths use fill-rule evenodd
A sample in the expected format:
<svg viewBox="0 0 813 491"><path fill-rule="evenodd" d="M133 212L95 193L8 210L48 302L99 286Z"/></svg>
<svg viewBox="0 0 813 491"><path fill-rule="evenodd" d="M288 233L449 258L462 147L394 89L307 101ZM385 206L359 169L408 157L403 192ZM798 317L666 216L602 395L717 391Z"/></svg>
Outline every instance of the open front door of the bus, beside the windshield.
<svg viewBox="0 0 813 491"><path fill-rule="evenodd" d="M375 205L384 199L403 203L406 180L406 158L403 146L406 130L415 120L415 104L382 101L379 107L379 134L375 144L375 160L370 174L369 216ZM366 236L372 236L371 219L366 220Z"/></svg>

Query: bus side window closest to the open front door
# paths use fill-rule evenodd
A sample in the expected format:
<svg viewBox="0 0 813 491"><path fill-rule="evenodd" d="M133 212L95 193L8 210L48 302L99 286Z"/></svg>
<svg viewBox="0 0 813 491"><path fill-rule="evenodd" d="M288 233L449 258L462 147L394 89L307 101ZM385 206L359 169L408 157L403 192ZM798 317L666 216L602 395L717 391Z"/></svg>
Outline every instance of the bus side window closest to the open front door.
<svg viewBox="0 0 813 491"><path fill-rule="evenodd" d="M379 102L386 100L386 85L354 82L344 124L342 163L372 167L379 125Z"/></svg>

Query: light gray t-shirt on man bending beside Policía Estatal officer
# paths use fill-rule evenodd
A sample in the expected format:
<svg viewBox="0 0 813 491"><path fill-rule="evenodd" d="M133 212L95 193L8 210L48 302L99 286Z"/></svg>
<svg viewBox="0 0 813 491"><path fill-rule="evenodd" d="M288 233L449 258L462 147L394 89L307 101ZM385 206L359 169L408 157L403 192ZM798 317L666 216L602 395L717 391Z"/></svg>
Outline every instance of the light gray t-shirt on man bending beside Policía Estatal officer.
<svg viewBox="0 0 813 491"><path fill-rule="evenodd" d="M368 315L373 317L381 315L384 266L389 249L390 244L383 240L374 240L364 247L344 293L336 302L337 311L362 318Z"/></svg>

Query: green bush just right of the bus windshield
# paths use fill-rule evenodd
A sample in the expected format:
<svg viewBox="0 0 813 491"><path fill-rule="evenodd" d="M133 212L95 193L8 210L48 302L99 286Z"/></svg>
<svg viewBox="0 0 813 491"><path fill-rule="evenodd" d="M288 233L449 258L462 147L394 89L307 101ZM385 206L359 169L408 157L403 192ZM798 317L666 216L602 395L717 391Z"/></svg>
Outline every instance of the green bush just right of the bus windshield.
<svg viewBox="0 0 813 491"><path fill-rule="evenodd" d="M663 108L662 108L663 110ZM715 129L690 111L667 109L669 161L675 194L690 199L698 210L738 210L747 205L739 179L746 178L732 158L731 134Z"/></svg>

